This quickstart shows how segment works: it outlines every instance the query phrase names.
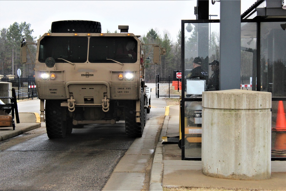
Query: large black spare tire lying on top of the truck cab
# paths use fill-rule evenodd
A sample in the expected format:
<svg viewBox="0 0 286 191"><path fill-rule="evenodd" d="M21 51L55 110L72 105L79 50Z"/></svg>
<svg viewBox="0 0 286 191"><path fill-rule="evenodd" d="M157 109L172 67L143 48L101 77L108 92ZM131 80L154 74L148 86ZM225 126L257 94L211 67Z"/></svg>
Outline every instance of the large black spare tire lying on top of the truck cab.
<svg viewBox="0 0 286 191"><path fill-rule="evenodd" d="M101 33L101 23L97 21L66 20L54 21L52 33Z"/></svg>

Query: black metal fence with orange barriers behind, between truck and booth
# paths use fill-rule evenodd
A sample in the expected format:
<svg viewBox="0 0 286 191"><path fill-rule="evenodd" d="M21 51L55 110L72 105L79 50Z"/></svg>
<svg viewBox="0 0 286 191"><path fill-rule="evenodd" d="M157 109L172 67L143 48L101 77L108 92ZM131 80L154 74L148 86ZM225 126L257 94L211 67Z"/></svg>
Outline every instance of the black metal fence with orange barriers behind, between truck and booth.
<svg viewBox="0 0 286 191"><path fill-rule="evenodd" d="M156 76L156 98L159 97L180 97L182 93L181 78Z"/></svg>

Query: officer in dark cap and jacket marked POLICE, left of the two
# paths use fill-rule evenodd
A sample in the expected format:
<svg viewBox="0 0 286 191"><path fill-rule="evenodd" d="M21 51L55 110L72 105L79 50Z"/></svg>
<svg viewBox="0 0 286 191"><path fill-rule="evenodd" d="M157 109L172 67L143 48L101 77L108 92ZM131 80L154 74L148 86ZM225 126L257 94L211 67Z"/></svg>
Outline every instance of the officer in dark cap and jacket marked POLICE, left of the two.
<svg viewBox="0 0 286 191"><path fill-rule="evenodd" d="M200 80L206 80L206 84L208 84L208 72L202 70L202 59L200 57L194 59L193 67L194 69L188 72L186 79L200 78Z"/></svg>

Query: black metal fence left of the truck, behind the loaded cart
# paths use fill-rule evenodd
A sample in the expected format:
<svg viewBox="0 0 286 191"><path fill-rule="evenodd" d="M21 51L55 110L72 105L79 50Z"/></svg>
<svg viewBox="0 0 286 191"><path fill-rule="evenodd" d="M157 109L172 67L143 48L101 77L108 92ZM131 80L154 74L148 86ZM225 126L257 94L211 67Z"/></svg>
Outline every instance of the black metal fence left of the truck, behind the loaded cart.
<svg viewBox="0 0 286 191"><path fill-rule="evenodd" d="M11 82L12 88L15 89L17 99L38 97L35 77L28 76L28 78L1 78L0 82Z"/></svg>

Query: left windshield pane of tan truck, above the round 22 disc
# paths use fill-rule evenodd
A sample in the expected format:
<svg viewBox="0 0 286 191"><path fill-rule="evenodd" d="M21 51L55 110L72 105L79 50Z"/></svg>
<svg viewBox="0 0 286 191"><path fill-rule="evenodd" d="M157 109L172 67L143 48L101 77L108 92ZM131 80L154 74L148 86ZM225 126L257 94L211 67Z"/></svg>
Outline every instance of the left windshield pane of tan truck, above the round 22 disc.
<svg viewBox="0 0 286 191"><path fill-rule="evenodd" d="M73 63L84 63L88 55L88 37L85 36L46 36L40 42L39 62L53 57L63 63L62 58Z"/></svg>

